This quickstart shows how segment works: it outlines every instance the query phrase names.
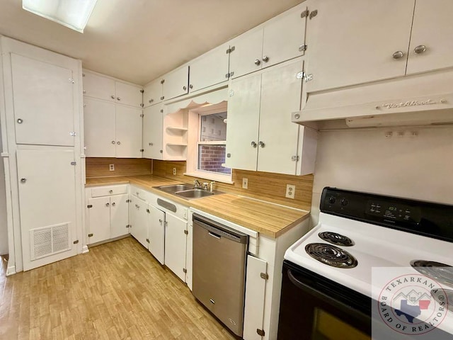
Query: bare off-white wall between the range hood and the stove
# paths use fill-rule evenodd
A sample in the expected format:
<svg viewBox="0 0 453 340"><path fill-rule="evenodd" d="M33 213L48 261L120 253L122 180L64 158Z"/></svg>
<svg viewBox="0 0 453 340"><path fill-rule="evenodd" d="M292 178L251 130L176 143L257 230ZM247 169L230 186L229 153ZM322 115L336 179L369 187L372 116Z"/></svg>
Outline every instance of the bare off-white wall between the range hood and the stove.
<svg viewBox="0 0 453 340"><path fill-rule="evenodd" d="M386 132L393 135L386 137ZM453 204L453 127L321 132L311 209L314 223L325 186Z"/></svg>

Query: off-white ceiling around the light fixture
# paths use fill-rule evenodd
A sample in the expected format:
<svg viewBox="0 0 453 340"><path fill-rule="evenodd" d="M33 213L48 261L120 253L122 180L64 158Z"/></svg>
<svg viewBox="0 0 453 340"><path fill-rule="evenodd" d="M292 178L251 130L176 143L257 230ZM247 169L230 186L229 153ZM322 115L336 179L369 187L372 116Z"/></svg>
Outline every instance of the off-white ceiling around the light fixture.
<svg viewBox="0 0 453 340"><path fill-rule="evenodd" d="M303 0L98 0L81 34L0 0L0 34L144 85Z"/></svg>

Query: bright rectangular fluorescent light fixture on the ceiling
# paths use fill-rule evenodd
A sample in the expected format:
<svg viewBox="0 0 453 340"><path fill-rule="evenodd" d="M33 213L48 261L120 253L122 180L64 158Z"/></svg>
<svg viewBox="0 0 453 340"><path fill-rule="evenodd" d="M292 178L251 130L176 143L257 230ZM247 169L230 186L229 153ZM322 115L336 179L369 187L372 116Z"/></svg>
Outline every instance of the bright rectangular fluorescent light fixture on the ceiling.
<svg viewBox="0 0 453 340"><path fill-rule="evenodd" d="M22 0L22 8L84 33L97 0Z"/></svg>

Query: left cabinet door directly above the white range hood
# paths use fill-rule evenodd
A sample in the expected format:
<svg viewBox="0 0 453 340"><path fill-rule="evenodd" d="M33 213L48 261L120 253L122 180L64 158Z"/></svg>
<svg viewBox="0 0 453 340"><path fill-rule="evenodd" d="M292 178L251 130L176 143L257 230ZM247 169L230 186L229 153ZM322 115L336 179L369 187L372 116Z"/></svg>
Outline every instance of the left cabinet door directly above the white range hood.
<svg viewBox="0 0 453 340"><path fill-rule="evenodd" d="M309 20L307 91L403 76L414 0L316 0ZM340 13L348 13L347 16ZM394 59L394 52L403 57Z"/></svg>

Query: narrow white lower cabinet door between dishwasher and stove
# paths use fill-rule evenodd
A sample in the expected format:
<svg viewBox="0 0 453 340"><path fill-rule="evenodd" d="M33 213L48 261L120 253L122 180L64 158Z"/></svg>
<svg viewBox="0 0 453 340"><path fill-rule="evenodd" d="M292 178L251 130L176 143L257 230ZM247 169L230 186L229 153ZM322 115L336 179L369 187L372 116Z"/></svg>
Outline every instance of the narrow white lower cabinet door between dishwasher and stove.
<svg viewBox="0 0 453 340"><path fill-rule="evenodd" d="M244 340L263 339L256 330L263 329L266 280L261 278L260 274L267 273L267 266L266 261L247 256L246 301L243 311Z"/></svg>

